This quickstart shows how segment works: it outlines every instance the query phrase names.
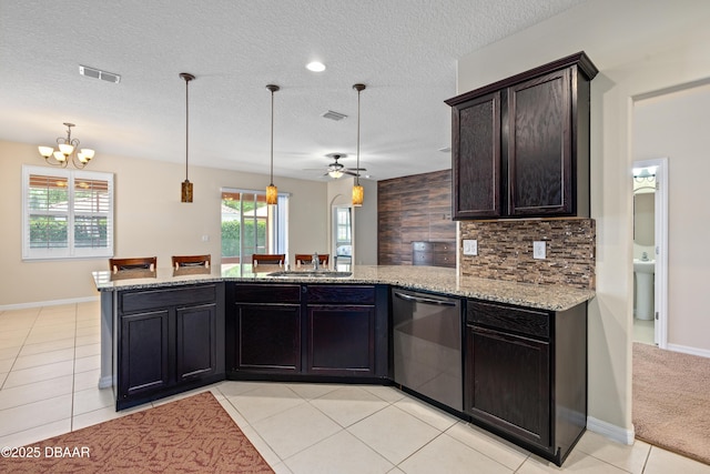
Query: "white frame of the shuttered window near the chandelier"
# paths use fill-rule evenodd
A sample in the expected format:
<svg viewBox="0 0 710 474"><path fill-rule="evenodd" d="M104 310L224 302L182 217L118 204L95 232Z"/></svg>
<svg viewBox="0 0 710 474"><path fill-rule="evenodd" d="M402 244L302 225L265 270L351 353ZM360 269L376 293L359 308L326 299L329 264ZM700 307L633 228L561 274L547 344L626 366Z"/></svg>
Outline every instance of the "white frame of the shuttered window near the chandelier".
<svg viewBox="0 0 710 474"><path fill-rule="evenodd" d="M65 211L51 211L51 210L37 210L30 208L30 177L48 177L48 178L61 178L67 180L68 188L68 202ZM91 180L91 181L104 181L108 184L105 194L108 195L108 210L95 211L77 209L75 196L77 189L75 182L78 180ZM59 259L99 259L113 256L114 245L114 175L113 173L99 172L99 171L84 171L84 170L68 170L68 169L51 169L47 167L22 167L22 260L36 261L36 260L59 260ZM61 248L32 248L30 235L30 216L32 214L47 215L65 215L67 216L67 246ZM105 245L101 246L82 246L78 245L74 235L74 224L77 218L105 218L106 219L106 235Z"/></svg>

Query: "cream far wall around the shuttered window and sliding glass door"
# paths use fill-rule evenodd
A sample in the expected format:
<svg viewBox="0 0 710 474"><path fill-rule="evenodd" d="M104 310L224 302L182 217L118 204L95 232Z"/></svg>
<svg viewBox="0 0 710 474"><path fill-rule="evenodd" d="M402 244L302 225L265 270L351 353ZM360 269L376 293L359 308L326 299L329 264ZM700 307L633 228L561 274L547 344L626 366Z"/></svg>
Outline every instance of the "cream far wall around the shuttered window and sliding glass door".
<svg viewBox="0 0 710 474"><path fill-rule="evenodd" d="M115 255L156 255L159 266L170 266L173 254L202 253L212 254L219 265L221 188L262 190L268 184L266 174L191 167L194 202L181 203L184 165L115 157L100 144L95 148L89 169L115 175ZM106 259L21 260L22 164L43 164L37 147L0 141L0 307L97 297L91 272L106 270ZM327 249L326 184L280 177L274 183L280 192L291 193L291 253Z"/></svg>

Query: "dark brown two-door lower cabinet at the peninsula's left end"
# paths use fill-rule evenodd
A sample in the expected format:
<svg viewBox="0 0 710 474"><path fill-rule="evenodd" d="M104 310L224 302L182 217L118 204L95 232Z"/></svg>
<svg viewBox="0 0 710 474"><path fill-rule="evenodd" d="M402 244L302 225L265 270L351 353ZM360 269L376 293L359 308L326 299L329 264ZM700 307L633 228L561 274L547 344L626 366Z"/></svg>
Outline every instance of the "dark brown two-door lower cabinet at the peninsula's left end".
<svg viewBox="0 0 710 474"><path fill-rule="evenodd" d="M116 295L116 410L224 379L224 284Z"/></svg>

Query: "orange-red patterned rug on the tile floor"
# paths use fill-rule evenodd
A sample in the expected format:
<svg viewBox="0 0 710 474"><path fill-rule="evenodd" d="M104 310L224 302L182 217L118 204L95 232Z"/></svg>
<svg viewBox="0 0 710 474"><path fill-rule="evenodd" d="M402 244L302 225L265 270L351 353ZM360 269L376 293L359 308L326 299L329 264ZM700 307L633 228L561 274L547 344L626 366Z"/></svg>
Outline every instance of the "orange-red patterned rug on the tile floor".
<svg viewBox="0 0 710 474"><path fill-rule="evenodd" d="M2 473L273 473L210 392L12 450Z"/></svg>

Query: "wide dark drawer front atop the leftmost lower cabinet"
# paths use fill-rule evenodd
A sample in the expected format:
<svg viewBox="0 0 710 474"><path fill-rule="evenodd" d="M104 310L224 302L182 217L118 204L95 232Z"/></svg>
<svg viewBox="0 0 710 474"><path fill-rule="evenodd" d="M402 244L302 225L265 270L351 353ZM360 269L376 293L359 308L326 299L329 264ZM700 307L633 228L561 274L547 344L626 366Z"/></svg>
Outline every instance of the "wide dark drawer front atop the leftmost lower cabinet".
<svg viewBox="0 0 710 474"><path fill-rule="evenodd" d="M120 311L130 313L158 307L181 306L183 304L213 303L216 301L216 286L200 285L172 290L146 290L121 293Z"/></svg>

